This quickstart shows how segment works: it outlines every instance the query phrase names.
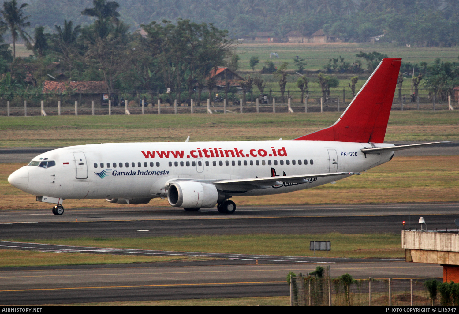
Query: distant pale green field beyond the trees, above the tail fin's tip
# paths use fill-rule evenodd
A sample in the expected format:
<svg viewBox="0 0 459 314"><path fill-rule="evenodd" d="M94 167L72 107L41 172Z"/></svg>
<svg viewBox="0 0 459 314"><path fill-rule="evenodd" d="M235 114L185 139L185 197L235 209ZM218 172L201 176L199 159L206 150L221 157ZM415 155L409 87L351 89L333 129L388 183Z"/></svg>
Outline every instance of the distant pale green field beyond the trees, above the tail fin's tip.
<svg viewBox="0 0 459 314"><path fill-rule="evenodd" d="M386 54L389 57L402 58L403 62L432 63L436 58L441 58L442 61L457 61L459 55L459 47L444 48L444 47L403 47L392 44L356 44L356 43L326 43L326 44L241 44L236 46L236 52L241 60L239 61L241 70L249 70L249 60L252 56L257 56L260 60L256 70L263 67L263 62L266 60L273 61L277 67L282 62L288 62L289 68L294 69L293 59L296 56L306 59L308 65L307 70L319 70L327 64L330 58L342 56L347 62L354 62L359 59L355 55L360 51L372 52L378 51ZM277 52L279 59L269 59L270 52ZM360 58L364 67L365 61Z"/></svg>

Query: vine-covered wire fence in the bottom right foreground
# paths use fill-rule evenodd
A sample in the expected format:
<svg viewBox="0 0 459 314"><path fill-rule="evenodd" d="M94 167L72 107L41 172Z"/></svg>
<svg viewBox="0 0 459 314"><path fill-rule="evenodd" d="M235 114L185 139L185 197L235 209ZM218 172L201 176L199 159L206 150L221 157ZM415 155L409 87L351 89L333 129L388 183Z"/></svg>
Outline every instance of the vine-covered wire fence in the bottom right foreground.
<svg viewBox="0 0 459 314"><path fill-rule="evenodd" d="M429 291L420 280L353 280L346 284L325 274L322 278L291 276L292 306L429 306Z"/></svg>

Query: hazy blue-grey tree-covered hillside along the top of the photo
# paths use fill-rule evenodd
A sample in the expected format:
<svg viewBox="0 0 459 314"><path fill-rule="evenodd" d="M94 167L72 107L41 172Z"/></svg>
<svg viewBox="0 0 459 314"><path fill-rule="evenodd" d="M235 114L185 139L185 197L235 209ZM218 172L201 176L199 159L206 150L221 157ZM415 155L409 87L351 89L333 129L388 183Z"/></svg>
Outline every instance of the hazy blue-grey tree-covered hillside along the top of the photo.
<svg viewBox="0 0 459 314"><path fill-rule="evenodd" d="M52 29L63 19L93 22L78 13L88 0L28 0L32 26ZM457 0L118 0L121 20L133 28L162 19L190 19L229 30L233 38L255 32L285 36L291 30L325 32L345 41L381 41L400 45L453 46L459 40Z"/></svg>

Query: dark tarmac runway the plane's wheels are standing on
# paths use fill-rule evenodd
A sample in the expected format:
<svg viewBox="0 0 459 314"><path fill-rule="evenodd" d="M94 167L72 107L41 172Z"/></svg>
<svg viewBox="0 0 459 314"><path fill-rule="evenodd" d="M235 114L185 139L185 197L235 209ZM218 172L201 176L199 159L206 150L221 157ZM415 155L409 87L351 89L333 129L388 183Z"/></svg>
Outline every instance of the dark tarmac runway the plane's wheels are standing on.
<svg viewBox="0 0 459 314"><path fill-rule="evenodd" d="M410 216L409 216L410 214ZM239 207L225 215L214 209L185 212L167 208L68 209L0 212L1 239L68 237L145 237L200 234L372 233L418 228L423 216L429 229L454 229L459 203L310 205ZM78 222L76 222L78 221Z"/></svg>

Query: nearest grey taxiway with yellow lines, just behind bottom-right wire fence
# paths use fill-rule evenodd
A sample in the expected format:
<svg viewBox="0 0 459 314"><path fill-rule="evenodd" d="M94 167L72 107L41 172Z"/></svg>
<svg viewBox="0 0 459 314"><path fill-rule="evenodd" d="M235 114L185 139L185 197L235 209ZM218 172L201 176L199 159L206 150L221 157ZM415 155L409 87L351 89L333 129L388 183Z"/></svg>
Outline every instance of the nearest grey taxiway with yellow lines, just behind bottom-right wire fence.
<svg viewBox="0 0 459 314"><path fill-rule="evenodd" d="M0 269L0 304L83 303L214 297L288 296L289 271L324 264L127 264ZM438 278L436 264L359 262L331 265L331 276Z"/></svg>

